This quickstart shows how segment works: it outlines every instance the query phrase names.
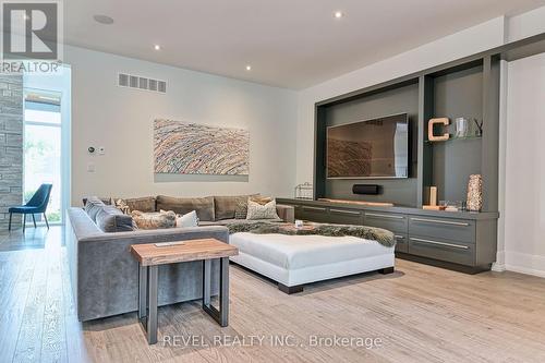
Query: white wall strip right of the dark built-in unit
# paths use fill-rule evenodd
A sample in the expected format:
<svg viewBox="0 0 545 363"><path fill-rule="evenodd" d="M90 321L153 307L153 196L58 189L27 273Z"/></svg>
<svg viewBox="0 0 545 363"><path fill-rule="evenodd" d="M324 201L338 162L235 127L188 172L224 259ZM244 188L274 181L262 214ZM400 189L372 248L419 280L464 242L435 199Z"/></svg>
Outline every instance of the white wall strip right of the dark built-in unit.
<svg viewBox="0 0 545 363"><path fill-rule="evenodd" d="M545 53L509 63L505 265L545 277Z"/></svg>

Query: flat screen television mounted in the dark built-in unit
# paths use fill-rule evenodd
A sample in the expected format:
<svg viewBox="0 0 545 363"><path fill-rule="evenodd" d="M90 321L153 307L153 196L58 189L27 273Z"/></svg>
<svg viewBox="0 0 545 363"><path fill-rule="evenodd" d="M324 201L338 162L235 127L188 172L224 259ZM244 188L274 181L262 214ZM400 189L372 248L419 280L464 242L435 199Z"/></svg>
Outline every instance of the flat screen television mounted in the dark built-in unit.
<svg viewBox="0 0 545 363"><path fill-rule="evenodd" d="M329 126L326 153L329 179L408 178L408 114Z"/></svg>

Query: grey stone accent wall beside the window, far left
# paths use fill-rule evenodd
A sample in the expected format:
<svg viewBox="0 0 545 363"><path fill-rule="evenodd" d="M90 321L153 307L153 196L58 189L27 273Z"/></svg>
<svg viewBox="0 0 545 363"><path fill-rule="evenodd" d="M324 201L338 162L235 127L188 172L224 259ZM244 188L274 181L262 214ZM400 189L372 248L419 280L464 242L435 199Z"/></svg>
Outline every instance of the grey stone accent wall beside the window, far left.
<svg viewBox="0 0 545 363"><path fill-rule="evenodd" d="M0 74L0 230L8 229L8 208L22 202L23 77ZM21 227L21 216L13 223Z"/></svg>

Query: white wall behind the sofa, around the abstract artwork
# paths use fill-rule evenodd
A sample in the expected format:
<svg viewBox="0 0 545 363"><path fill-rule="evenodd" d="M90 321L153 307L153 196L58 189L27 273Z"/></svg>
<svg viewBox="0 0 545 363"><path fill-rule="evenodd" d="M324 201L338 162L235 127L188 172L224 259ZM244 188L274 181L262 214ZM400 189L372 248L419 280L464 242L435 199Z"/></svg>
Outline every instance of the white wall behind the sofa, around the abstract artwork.
<svg viewBox="0 0 545 363"><path fill-rule="evenodd" d="M291 90L152 62L65 47L72 66L72 204L85 195L183 195L262 192L294 186L296 94ZM118 72L168 82L167 94L116 85ZM250 131L250 177L175 177L153 169L153 120L172 118ZM89 155L105 146L106 155ZM87 172L93 162L95 172ZM174 180L174 181L172 181ZM240 178L238 179L240 180Z"/></svg>

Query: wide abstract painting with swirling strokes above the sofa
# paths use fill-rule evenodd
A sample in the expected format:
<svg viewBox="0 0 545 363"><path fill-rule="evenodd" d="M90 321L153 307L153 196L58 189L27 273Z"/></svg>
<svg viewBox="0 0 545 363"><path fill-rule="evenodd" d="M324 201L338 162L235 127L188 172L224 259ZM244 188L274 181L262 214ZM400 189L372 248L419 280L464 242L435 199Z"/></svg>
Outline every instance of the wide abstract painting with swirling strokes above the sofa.
<svg viewBox="0 0 545 363"><path fill-rule="evenodd" d="M156 173L247 176L247 130L173 120L154 122Z"/></svg>

